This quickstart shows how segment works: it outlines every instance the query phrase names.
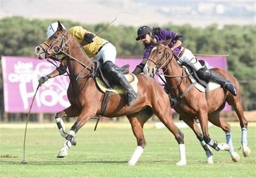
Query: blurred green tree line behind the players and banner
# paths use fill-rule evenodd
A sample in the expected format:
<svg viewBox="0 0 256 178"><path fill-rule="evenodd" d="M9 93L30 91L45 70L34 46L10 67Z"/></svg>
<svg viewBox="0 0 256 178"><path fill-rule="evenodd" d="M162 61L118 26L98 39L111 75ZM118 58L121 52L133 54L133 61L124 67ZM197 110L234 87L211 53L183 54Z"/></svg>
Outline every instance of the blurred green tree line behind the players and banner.
<svg viewBox="0 0 256 178"><path fill-rule="evenodd" d="M57 19L39 20L22 17L7 17L0 20L0 55L35 57L34 48L46 40L46 28ZM83 26L97 34L108 24L81 24L70 20L61 20L65 27ZM141 26L147 24L141 24ZM143 55L143 45L136 41L138 27L109 26L99 34L100 37L115 45L118 57ZM221 29L217 24L205 28L188 24L161 26L183 34L183 46L196 54L228 54L228 71L232 73L242 87L243 104L246 110L256 109L256 29L255 26L228 25ZM1 68L0 68L1 73ZM0 78L0 100L3 103L3 81ZM3 106L1 107L1 110Z"/></svg>

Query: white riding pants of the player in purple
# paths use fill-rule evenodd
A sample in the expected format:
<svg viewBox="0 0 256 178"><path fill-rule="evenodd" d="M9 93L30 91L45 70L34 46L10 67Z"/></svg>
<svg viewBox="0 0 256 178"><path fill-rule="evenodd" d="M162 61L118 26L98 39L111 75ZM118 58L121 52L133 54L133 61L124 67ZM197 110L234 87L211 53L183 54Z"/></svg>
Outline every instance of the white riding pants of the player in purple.
<svg viewBox="0 0 256 178"><path fill-rule="evenodd" d="M182 47L180 51L182 51L183 49L184 49L184 53L182 54L181 57L178 57L177 63L180 64L180 65L184 65L184 64L189 65L195 71L200 70L200 68L202 68L203 66L199 63L199 61L193 55L191 50Z"/></svg>

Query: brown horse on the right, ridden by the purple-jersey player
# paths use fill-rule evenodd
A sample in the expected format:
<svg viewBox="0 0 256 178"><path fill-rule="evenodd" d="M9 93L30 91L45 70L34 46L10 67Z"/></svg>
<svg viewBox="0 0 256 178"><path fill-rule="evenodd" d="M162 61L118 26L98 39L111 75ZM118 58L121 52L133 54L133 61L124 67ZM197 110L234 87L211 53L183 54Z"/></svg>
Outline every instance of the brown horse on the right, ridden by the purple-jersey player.
<svg viewBox="0 0 256 178"><path fill-rule="evenodd" d="M249 156L251 151L247 145L247 121L244 117L243 106L241 103L241 89L239 84L230 73L227 71L213 68L221 77L227 78L237 88L237 96L233 96L231 93L225 91L222 87L209 92L209 99L205 99L205 93L198 91L188 75L184 71L184 68L180 67L177 63L175 56L168 47L171 40L160 41L152 48L150 58L145 65L145 73L147 75L159 75L159 69L163 69L164 77L167 85L170 87L170 95L172 100L177 102L177 106L174 107L175 111L180 114L180 118L195 132L196 137L200 140L202 146L207 154L207 162L213 163L212 154L207 147L207 144L213 147L216 151L226 150L229 147L230 156L233 161L239 161L239 154L234 151L232 144L232 136L230 132L230 126L223 119L220 118L220 111L225 106L225 101L236 110L236 114L240 121L242 130L241 144L243 147L244 157ZM202 133L195 122L198 118ZM208 133L208 119L215 126L220 127L226 133L227 144L218 144L215 140L211 140ZM205 144L206 143L206 144Z"/></svg>

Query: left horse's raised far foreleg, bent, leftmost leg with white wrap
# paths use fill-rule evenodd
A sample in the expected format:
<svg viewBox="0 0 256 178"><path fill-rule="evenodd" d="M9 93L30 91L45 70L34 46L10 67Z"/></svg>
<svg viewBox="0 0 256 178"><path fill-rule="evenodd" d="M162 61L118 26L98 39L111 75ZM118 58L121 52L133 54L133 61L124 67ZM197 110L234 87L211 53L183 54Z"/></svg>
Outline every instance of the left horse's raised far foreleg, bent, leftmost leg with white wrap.
<svg viewBox="0 0 256 178"><path fill-rule="evenodd" d="M65 119L67 116L76 117L77 115L79 115L79 110L77 109L77 107L73 107L72 105L65 110L62 110L61 112L56 113L55 122L58 126L61 137L66 138L68 135L65 131L65 124L63 122L63 119Z"/></svg>

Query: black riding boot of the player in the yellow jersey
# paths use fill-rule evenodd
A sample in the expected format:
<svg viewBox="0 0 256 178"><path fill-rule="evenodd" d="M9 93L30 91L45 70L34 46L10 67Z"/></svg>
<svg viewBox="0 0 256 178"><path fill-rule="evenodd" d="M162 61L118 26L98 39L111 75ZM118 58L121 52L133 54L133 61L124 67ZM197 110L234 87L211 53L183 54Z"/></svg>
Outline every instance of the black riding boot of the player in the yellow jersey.
<svg viewBox="0 0 256 178"><path fill-rule="evenodd" d="M122 85L125 91L125 97L127 98L127 105L130 106L134 100L137 98L137 93L129 84L128 80L124 77L124 73L120 70L118 66L113 64L111 61L106 61L103 66L102 70L106 75L108 75L109 80L113 80L116 84Z"/></svg>

